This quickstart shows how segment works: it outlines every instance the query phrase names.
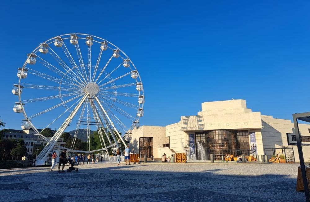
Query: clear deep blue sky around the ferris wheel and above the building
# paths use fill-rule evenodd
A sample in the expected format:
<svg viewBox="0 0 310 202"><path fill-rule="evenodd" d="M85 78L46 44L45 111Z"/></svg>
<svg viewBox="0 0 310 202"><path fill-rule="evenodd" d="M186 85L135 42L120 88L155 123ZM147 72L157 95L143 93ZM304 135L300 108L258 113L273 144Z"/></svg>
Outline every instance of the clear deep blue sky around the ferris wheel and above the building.
<svg viewBox="0 0 310 202"><path fill-rule="evenodd" d="M134 61L144 83L141 125L196 115L207 101L246 99L264 115L310 111L309 2L2 2L0 119L12 111L16 71L39 43L60 34L100 36ZM44 120L42 120L44 121ZM56 126L55 126L56 127Z"/></svg>

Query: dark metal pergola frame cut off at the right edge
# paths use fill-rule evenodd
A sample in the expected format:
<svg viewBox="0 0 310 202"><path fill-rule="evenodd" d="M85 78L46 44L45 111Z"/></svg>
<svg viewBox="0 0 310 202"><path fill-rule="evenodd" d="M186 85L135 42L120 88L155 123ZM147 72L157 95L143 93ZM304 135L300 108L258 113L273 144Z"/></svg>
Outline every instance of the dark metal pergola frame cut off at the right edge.
<svg viewBox="0 0 310 202"><path fill-rule="evenodd" d="M305 161L303 159L303 148L301 147L301 138L300 138L300 133L299 133L298 120L310 123L310 112L293 114L293 122L294 122L294 128L295 128L297 149L298 149L298 154L299 154L301 175L303 177L303 186L305 189L306 201L309 201L310 195L309 195L309 188L308 188L308 180L307 180L307 175L306 175Z"/></svg>

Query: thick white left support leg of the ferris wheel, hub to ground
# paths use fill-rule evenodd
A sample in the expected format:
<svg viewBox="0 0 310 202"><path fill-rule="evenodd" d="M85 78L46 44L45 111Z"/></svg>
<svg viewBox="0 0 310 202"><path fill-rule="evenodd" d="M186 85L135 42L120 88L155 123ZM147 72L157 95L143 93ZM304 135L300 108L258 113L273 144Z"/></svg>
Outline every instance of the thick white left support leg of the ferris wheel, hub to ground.
<svg viewBox="0 0 310 202"><path fill-rule="evenodd" d="M51 138L51 140L47 143L47 145L44 147L44 149L42 149L42 151L40 152L40 154L37 156L36 158L36 166L41 166L45 164L46 158L47 158L47 154L50 153L50 151L54 148L57 140L60 138L60 136L62 135L62 133L64 132L64 130L66 130L66 128L68 127L68 125L70 124L70 122L72 121L73 117L76 115L76 113L78 112L78 110L81 108L82 104L84 103L84 101L87 99L87 97L89 96L89 94L85 94L84 97L82 98L82 100L78 103L78 105L74 108L74 110L71 112L71 114L69 115L69 117L64 121L64 123L60 126L60 128L56 131L56 133L53 135L53 137Z"/></svg>

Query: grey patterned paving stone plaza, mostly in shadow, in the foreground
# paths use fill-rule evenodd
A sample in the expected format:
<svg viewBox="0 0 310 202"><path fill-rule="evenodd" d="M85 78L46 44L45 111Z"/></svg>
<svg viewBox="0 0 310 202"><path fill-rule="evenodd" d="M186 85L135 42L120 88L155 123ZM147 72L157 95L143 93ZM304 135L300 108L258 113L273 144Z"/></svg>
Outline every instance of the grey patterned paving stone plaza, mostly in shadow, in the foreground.
<svg viewBox="0 0 310 202"><path fill-rule="evenodd" d="M298 164L80 165L0 170L1 201L304 201ZM65 167L65 169L67 166Z"/></svg>

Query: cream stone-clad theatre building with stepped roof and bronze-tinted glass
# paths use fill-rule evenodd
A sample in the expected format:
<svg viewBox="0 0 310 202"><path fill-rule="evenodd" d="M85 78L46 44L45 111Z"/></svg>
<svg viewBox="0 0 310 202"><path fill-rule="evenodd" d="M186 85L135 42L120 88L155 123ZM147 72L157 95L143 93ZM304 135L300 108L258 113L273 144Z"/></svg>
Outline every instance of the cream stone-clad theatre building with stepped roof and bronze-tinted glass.
<svg viewBox="0 0 310 202"><path fill-rule="evenodd" d="M310 158L310 125L299 124L304 158ZM155 141L156 140L156 141ZM284 155L287 161L299 162L294 124L252 112L246 100L205 102L201 112L182 116L180 121L165 127L141 126L132 131L131 145L140 154L186 153L188 160L215 160L222 155ZM189 150L185 151L184 147ZM138 153L138 152L137 152Z"/></svg>

